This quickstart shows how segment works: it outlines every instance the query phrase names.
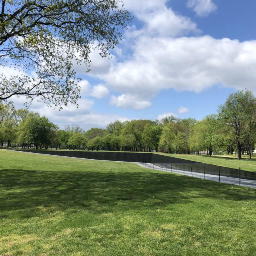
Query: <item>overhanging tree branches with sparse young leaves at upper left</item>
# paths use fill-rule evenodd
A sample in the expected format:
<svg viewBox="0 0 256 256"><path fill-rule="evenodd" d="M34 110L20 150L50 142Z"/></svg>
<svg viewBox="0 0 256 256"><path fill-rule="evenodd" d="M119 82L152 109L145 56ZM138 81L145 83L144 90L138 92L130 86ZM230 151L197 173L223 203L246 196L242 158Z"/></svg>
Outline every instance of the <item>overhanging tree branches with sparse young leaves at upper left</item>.
<svg viewBox="0 0 256 256"><path fill-rule="evenodd" d="M0 100L37 97L62 108L77 103L73 65L85 64L97 48L102 57L118 44L131 21L120 0L2 0L0 7ZM15 72L13 72L15 70ZM85 70L85 71L86 71Z"/></svg>

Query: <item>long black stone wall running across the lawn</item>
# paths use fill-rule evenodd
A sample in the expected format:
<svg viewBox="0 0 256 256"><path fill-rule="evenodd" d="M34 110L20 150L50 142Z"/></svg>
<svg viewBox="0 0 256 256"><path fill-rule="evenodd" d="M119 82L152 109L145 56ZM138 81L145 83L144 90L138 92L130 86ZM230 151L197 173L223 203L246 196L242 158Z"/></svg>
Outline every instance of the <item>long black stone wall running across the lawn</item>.
<svg viewBox="0 0 256 256"><path fill-rule="evenodd" d="M146 164L154 164L160 168L164 164L165 168L176 168L179 170L198 172L204 174L213 174L218 176L226 176L247 180L256 180L256 172L248 172L244 170L228 168L224 166L216 166L213 164L205 164L201 162L185 160L181 158L163 156L154 153L144 152L100 152L100 151L66 151L66 150L22 150L38 154L49 154L54 156L67 156L75 158L87 158L94 160L110 160L120 162L136 162ZM162 167L162 166L161 166Z"/></svg>

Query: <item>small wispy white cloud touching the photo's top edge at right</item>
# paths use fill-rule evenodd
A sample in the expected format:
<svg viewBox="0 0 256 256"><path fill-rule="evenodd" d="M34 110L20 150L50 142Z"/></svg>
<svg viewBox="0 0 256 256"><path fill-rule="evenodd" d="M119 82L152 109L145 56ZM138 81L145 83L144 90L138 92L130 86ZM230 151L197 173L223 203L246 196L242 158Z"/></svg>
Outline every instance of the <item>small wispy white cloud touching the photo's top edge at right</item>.
<svg viewBox="0 0 256 256"><path fill-rule="evenodd" d="M187 7L192 8L201 17L217 10L217 6L212 0L188 0Z"/></svg>

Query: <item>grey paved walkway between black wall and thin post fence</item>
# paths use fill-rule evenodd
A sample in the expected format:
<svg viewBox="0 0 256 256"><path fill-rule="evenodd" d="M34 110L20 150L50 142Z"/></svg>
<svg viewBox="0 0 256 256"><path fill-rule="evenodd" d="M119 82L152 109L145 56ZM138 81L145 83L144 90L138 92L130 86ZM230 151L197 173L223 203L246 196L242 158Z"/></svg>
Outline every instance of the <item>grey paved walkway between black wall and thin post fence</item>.
<svg viewBox="0 0 256 256"><path fill-rule="evenodd" d="M203 174L201 172L192 172L188 170L184 170L178 168L178 170L171 170L170 168L165 168L165 165L163 165L163 168L160 164L160 166L156 166L155 164L145 164L145 163L138 163L140 166L150 168L150 169L156 169L160 171L166 171L166 172L174 172L182 175L187 175L187 176L193 176L195 178L200 178L200 179L206 179L206 180L214 180L217 182L222 182L222 183L227 183L227 184L234 184L239 186L239 178L232 178L232 177L226 177L226 176L218 176L218 175L213 175L213 174ZM245 186L245 187L250 187L250 188L256 188L256 180L246 180L246 179L241 179L240 180L240 185Z"/></svg>

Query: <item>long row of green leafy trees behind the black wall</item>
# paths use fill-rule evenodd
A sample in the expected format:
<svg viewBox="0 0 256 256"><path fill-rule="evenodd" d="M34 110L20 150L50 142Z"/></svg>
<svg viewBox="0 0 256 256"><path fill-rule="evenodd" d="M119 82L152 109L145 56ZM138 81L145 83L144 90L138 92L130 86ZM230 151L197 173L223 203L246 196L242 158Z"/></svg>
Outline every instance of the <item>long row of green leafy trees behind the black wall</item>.
<svg viewBox="0 0 256 256"><path fill-rule="evenodd" d="M256 98L250 90L230 94L218 114L202 120L168 116L162 120L116 120L106 129L64 130L46 116L0 104L0 144L7 148L66 148L70 150L160 151L182 154L236 152L251 154L256 142Z"/></svg>

